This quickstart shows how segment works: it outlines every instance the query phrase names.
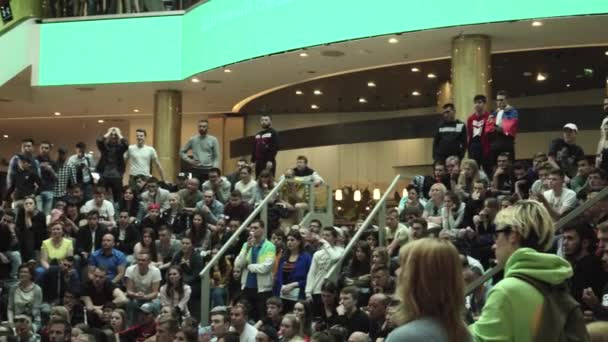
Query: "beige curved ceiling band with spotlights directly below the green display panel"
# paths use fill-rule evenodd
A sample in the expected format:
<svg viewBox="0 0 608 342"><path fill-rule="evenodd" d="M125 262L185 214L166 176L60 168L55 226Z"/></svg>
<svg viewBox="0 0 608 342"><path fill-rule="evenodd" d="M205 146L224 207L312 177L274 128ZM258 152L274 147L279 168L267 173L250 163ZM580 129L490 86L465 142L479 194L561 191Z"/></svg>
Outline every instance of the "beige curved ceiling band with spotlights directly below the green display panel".
<svg viewBox="0 0 608 342"><path fill-rule="evenodd" d="M56 111L63 117L149 115L153 111L154 92L159 89L182 90L186 114L238 111L248 100L300 82L362 69L449 58L451 41L460 34L489 35L493 53L608 45L608 16L542 22L541 27L532 27L531 21L517 21L404 33L397 36L397 44L388 44L389 37L381 36L316 46L306 50L309 56L305 58L299 56L302 50L298 50L231 65L231 73L216 69L195 75L200 83L188 79L91 85L90 90L84 91L79 90L82 86L31 87L28 69L0 87L0 120L48 118ZM323 56L327 51L340 51L344 55ZM3 101L7 99L11 101ZM139 113L135 114L134 109Z"/></svg>

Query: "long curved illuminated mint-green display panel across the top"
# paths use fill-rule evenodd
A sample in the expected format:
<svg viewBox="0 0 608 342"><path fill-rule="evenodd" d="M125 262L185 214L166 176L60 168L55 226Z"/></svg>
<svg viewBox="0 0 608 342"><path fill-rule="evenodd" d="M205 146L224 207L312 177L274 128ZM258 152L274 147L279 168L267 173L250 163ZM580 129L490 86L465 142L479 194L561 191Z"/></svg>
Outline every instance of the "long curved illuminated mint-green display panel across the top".
<svg viewBox="0 0 608 342"><path fill-rule="evenodd" d="M606 0L211 0L183 16L43 24L38 81L174 81L250 58L348 39L603 13L608 13Z"/></svg>

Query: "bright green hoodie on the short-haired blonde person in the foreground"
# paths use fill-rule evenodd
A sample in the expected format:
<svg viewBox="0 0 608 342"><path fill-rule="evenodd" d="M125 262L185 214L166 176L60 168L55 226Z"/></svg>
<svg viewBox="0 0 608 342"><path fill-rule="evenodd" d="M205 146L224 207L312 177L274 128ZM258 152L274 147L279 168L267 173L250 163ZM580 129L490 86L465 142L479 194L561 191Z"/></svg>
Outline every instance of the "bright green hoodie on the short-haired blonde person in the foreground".
<svg viewBox="0 0 608 342"><path fill-rule="evenodd" d="M572 267L554 254L539 253L532 248L515 251L505 265L504 279L490 290L481 317L469 326L475 341L534 340L543 296L532 285L514 278L516 274L557 285L572 276Z"/></svg>

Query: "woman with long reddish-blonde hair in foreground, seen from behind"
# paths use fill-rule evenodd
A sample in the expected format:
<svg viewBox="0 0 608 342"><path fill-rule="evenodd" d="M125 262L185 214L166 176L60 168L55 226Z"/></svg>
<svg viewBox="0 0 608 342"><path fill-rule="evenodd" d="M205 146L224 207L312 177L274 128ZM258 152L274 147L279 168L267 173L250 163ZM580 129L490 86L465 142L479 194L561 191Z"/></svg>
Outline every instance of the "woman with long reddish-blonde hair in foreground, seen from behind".
<svg viewBox="0 0 608 342"><path fill-rule="evenodd" d="M386 339L396 341L469 341L464 323L464 280L458 250L445 240L409 242L400 252L397 296L400 327Z"/></svg>

